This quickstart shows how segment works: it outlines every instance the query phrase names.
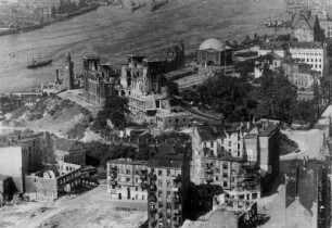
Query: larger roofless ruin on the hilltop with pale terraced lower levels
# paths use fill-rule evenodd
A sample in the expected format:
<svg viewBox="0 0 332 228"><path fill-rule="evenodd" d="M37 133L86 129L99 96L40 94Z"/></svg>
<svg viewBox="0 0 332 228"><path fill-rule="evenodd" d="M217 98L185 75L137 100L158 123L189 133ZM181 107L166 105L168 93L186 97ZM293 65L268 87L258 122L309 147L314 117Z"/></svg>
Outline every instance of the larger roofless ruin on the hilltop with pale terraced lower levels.
<svg viewBox="0 0 332 228"><path fill-rule="evenodd" d="M119 94L129 100L135 119L155 124L156 114L170 113L167 83L164 74L184 66L184 47L174 46L159 56L129 54L128 64L122 66Z"/></svg>

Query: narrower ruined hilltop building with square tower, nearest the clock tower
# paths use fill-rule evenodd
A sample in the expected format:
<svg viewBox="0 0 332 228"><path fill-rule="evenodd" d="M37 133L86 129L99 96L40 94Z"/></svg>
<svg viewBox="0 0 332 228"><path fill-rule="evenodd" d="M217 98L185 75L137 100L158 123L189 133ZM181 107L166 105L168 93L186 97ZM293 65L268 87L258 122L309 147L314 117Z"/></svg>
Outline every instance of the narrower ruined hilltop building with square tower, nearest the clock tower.
<svg viewBox="0 0 332 228"><path fill-rule="evenodd" d="M84 56L85 99L102 107L106 98L115 92L114 88L119 84L118 75L115 67L101 64L100 56Z"/></svg>

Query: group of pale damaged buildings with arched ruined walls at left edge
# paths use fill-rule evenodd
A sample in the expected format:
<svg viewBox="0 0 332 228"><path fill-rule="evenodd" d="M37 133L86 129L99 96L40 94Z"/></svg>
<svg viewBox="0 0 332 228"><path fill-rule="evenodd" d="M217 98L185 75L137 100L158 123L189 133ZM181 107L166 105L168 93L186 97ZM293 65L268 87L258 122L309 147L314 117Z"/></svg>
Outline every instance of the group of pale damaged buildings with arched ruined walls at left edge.
<svg viewBox="0 0 332 228"><path fill-rule="evenodd" d="M54 200L81 186L86 149L73 140L54 141L48 132L15 134L1 138L0 161L0 194L5 199L25 193Z"/></svg>

